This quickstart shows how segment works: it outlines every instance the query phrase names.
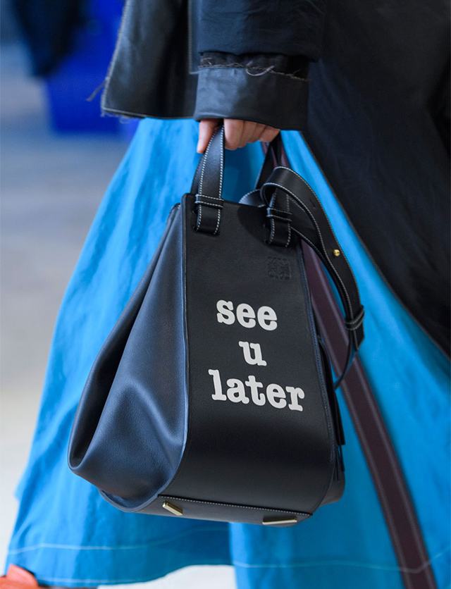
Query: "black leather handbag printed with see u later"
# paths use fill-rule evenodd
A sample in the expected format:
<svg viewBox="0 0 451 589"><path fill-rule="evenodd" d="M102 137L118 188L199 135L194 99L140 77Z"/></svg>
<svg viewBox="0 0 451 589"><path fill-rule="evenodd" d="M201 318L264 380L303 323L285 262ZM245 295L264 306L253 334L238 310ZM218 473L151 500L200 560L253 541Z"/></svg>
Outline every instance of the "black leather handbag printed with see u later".
<svg viewBox="0 0 451 589"><path fill-rule="evenodd" d="M268 146L256 189L224 201L223 127L173 206L94 361L70 469L125 512L290 526L340 499L345 443L302 241L364 337L351 268L311 187Z"/></svg>

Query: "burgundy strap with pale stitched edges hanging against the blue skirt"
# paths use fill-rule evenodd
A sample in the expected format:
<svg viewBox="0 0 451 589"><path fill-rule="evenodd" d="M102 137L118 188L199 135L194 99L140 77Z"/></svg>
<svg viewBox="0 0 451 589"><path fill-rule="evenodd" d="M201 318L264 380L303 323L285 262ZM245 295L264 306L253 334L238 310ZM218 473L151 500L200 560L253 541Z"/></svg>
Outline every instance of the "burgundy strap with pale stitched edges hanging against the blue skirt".
<svg viewBox="0 0 451 589"><path fill-rule="evenodd" d="M343 362L347 333L321 262L304 245L309 287L319 330L334 371ZM406 589L437 589L412 497L358 354L340 385L378 493Z"/></svg>

